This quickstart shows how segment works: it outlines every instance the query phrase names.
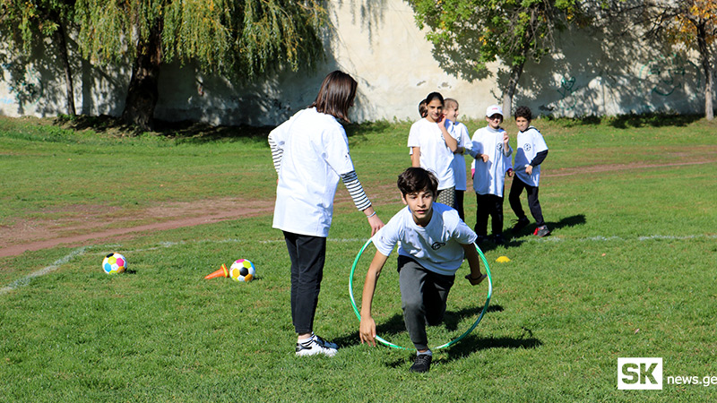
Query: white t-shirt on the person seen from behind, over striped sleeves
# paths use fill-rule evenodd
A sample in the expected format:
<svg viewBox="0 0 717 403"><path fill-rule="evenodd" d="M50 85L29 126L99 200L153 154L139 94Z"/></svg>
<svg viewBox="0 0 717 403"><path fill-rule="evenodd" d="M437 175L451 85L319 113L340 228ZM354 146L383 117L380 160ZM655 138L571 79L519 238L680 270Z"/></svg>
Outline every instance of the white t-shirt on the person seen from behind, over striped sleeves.
<svg viewBox="0 0 717 403"><path fill-rule="evenodd" d="M272 226L295 234L329 236L340 175L354 170L343 126L311 107L298 111L271 135L284 151Z"/></svg>

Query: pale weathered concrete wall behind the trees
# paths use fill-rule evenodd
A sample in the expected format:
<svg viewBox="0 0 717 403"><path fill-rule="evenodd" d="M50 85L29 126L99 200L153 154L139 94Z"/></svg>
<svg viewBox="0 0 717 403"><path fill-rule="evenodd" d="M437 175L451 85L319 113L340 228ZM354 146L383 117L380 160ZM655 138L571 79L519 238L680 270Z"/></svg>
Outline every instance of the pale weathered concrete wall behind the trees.
<svg viewBox="0 0 717 403"><path fill-rule="evenodd" d="M402 0L332 0L325 31L326 60L316 71L272 75L239 83L200 73L193 65L165 64L155 117L209 124L280 124L307 107L326 73L341 69L358 81L357 122L416 120L418 104L431 91L458 99L464 117L479 118L500 104L500 64L488 77L467 79L442 65ZM704 77L694 54L643 44L609 44L594 30L569 30L557 37L557 51L540 64L528 62L514 97L535 115L603 116L646 112L703 113ZM629 46L628 46L629 45ZM99 68L73 54L77 112L119 116L131 71ZM4 57L2 57L4 55ZM64 75L48 56L23 63L0 45L0 115L56 116L65 112ZM687 55L687 56L686 56Z"/></svg>

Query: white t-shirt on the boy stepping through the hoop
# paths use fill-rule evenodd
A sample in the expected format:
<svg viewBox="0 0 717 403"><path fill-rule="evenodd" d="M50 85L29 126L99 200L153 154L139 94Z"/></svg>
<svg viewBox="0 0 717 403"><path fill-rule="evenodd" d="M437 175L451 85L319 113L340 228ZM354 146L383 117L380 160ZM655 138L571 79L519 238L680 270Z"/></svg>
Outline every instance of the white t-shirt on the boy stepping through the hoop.
<svg viewBox="0 0 717 403"><path fill-rule="evenodd" d="M426 270L445 276L453 276L461 267L461 244L472 244L475 240L476 233L458 217L458 211L437 202L433 203L428 226L417 225L406 206L371 238L376 250L385 256L399 244L400 255L409 256Z"/></svg>

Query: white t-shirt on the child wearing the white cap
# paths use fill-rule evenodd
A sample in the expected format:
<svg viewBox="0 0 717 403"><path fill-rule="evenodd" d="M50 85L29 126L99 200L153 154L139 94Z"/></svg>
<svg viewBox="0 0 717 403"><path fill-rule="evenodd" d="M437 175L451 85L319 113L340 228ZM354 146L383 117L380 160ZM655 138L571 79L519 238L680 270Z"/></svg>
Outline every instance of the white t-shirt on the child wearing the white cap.
<svg viewBox="0 0 717 403"><path fill-rule="evenodd" d="M473 190L478 194L495 194L503 197L505 187L505 171L511 166L511 153L513 149L508 145L509 153L503 153L503 135L505 130L493 129L490 126L482 127L473 133L473 153L488 155L488 162L483 159L475 159L472 167L475 168L473 175Z"/></svg>

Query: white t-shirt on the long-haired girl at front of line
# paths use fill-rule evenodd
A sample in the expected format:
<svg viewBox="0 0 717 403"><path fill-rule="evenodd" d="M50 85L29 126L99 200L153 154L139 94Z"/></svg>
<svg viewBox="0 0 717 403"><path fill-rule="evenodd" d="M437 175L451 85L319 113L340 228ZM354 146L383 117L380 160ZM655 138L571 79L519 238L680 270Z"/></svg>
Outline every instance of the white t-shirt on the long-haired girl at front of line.
<svg viewBox="0 0 717 403"><path fill-rule="evenodd" d="M438 190L455 186L454 153L445 145L438 124L425 118L411 124L408 146L420 147L420 166L436 175Z"/></svg>

